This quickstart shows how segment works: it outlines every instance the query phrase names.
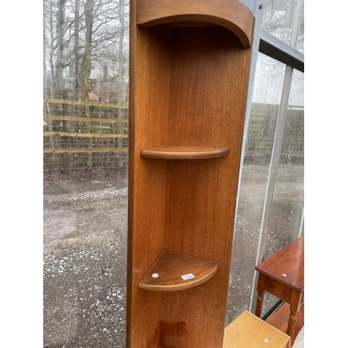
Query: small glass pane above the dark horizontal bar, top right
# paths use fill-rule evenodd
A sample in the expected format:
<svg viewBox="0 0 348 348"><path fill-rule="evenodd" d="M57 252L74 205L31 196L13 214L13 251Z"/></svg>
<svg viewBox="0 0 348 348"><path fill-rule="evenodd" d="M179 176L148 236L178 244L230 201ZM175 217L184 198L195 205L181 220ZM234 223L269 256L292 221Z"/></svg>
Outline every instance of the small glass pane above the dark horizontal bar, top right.
<svg viewBox="0 0 348 348"><path fill-rule="evenodd" d="M262 29L290 45L295 0L266 0Z"/></svg>

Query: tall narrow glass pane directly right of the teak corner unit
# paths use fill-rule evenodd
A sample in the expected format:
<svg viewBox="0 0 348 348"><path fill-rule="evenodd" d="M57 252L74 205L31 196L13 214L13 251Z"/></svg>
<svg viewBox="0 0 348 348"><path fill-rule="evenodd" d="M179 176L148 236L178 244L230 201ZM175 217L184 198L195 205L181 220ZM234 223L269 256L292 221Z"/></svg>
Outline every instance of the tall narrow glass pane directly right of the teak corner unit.
<svg viewBox="0 0 348 348"><path fill-rule="evenodd" d="M250 306L269 165L284 77L283 63L264 54L258 54L242 181L237 203L226 325L244 310L248 310Z"/></svg>

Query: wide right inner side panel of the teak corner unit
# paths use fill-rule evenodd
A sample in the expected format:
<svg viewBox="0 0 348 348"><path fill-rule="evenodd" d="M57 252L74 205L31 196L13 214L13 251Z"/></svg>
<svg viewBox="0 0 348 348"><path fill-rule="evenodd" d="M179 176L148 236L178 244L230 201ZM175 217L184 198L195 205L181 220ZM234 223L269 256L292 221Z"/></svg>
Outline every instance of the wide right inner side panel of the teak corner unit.
<svg viewBox="0 0 348 348"><path fill-rule="evenodd" d="M219 348L228 294L251 49L219 26L173 29L171 143L230 148L168 161L165 247L220 262L206 283L162 296L163 347ZM163 323L172 323L167 326ZM184 330L173 330L175 323ZM168 327L168 329L167 329Z"/></svg>

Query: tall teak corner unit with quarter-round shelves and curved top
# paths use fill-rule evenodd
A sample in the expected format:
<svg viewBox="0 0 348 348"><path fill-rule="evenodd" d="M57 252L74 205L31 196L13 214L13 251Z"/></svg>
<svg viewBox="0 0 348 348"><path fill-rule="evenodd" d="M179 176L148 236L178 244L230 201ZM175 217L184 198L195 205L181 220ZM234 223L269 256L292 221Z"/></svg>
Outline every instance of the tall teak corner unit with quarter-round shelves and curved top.
<svg viewBox="0 0 348 348"><path fill-rule="evenodd" d="M128 348L219 348L253 14L130 3Z"/></svg>

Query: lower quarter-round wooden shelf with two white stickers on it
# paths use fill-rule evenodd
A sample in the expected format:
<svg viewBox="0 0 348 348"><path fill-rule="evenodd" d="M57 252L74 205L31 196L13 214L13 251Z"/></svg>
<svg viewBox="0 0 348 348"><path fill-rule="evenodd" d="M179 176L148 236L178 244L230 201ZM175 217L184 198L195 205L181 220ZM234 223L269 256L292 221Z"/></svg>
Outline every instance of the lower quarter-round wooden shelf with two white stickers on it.
<svg viewBox="0 0 348 348"><path fill-rule="evenodd" d="M164 250L138 287L152 291L175 291L195 287L212 278L219 262Z"/></svg>

